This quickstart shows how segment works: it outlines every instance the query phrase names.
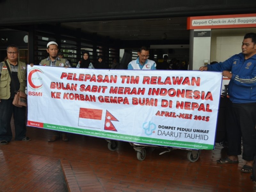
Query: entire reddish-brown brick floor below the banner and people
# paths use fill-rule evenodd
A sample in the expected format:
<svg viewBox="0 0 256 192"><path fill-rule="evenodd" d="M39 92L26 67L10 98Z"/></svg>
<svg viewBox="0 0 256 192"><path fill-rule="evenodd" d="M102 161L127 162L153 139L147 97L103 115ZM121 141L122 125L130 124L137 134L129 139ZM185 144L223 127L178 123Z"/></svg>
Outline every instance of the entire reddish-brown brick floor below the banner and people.
<svg viewBox="0 0 256 192"><path fill-rule="evenodd" d="M147 148L144 161L127 142L108 150L101 138L69 133L69 141L47 142L50 131L28 127L31 141L0 145L0 191L226 192L256 191L239 164L217 164L225 148L203 150L198 161L186 150Z"/></svg>

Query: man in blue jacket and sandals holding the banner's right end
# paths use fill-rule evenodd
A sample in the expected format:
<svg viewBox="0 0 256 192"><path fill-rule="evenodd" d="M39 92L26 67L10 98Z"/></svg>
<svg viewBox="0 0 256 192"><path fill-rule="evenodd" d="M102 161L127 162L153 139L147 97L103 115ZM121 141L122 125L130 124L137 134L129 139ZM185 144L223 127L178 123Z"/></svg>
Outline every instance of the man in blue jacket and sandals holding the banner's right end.
<svg viewBox="0 0 256 192"><path fill-rule="evenodd" d="M230 78L227 107L228 156L217 163L238 163L242 137L242 156L246 164L241 172L252 172L256 154L256 33L245 34L241 53L224 62L200 67L199 70L222 71L223 76Z"/></svg>

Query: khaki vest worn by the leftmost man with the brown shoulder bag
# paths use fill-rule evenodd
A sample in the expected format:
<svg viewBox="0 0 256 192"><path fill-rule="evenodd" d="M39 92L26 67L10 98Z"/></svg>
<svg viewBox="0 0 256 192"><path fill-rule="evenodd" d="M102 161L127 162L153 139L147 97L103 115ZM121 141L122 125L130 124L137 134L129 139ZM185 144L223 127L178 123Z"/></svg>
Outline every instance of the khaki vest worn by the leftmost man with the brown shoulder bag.
<svg viewBox="0 0 256 192"><path fill-rule="evenodd" d="M11 69L9 60L6 60L9 68ZM6 66L5 63L3 67ZM18 79L20 81L20 91L25 92L27 86L27 65L21 61L18 62ZM0 78L0 99L9 99L11 96L11 77L9 75L8 69L2 69L2 74ZM16 87L17 88L17 87Z"/></svg>

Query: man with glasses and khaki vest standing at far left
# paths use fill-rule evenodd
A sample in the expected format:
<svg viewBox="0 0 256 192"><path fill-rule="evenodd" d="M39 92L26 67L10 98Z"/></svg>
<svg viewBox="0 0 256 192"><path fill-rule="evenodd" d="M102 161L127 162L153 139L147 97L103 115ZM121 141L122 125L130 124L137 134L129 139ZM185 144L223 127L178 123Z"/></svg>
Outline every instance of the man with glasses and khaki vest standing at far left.
<svg viewBox="0 0 256 192"><path fill-rule="evenodd" d="M26 137L26 107L12 105L17 91L25 92L27 86L27 65L19 61L19 48L7 47L8 59L0 63L0 144L6 145L12 140L11 118L13 114L15 140L29 141ZM9 73L11 72L11 76Z"/></svg>

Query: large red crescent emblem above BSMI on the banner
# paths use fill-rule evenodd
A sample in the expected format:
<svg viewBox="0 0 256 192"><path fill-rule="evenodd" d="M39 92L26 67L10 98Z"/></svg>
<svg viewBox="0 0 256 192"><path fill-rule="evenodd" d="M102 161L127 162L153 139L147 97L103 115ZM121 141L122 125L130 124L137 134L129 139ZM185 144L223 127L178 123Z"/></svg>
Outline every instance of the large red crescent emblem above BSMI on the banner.
<svg viewBox="0 0 256 192"><path fill-rule="evenodd" d="M38 68L32 68L28 73L28 84L31 89L41 89L43 86L43 81L41 74L43 71Z"/></svg>

